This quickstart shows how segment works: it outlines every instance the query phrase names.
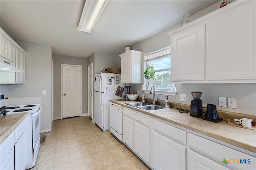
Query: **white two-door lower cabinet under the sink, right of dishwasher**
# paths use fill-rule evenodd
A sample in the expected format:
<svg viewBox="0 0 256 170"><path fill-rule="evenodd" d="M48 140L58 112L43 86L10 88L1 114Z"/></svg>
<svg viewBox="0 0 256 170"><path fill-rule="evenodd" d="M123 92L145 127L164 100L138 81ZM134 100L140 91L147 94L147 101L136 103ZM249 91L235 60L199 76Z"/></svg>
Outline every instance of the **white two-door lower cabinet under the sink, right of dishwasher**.
<svg viewBox="0 0 256 170"><path fill-rule="evenodd" d="M123 107L123 142L150 165L150 118Z"/></svg>

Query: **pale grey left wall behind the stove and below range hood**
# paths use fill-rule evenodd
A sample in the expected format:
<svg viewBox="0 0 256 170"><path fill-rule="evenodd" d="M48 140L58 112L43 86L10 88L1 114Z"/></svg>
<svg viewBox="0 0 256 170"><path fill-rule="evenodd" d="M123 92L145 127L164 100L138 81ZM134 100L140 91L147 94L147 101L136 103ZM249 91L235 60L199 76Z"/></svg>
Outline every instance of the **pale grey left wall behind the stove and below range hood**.
<svg viewBox="0 0 256 170"><path fill-rule="evenodd" d="M16 41L26 53L25 84L1 84L5 97L41 97L41 131L52 128L52 47L51 45ZM46 95L42 95L46 90ZM21 101L22 102L22 101Z"/></svg>

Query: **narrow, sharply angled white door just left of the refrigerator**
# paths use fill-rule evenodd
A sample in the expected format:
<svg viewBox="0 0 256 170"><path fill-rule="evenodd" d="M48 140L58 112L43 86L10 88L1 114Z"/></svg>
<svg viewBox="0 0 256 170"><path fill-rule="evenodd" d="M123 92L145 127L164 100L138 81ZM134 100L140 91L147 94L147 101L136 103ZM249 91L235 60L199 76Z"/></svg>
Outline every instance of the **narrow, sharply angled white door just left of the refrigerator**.
<svg viewBox="0 0 256 170"><path fill-rule="evenodd" d="M93 63L88 65L88 116L94 122L93 112Z"/></svg>

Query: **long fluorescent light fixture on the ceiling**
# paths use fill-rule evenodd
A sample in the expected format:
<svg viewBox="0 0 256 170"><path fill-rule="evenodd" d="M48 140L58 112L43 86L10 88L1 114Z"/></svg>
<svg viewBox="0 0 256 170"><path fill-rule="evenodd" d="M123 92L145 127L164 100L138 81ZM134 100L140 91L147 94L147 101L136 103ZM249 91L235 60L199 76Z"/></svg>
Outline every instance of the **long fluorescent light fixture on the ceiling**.
<svg viewBox="0 0 256 170"><path fill-rule="evenodd" d="M78 30L91 33L107 2L108 0L86 0Z"/></svg>

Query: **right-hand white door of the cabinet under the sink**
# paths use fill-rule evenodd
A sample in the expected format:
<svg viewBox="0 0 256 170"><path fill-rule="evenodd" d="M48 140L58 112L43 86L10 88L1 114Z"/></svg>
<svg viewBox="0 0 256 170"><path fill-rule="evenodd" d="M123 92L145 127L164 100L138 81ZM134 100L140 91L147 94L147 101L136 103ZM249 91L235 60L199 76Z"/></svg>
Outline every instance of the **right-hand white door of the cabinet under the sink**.
<svg viewBox="0 0 256 170"><path fill-rule="evenodd" d="M150 129L134 121L134 152L150 164Z"/></svg>

